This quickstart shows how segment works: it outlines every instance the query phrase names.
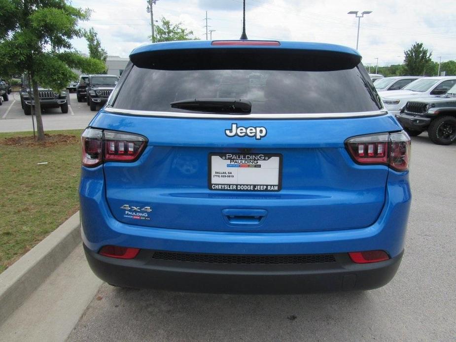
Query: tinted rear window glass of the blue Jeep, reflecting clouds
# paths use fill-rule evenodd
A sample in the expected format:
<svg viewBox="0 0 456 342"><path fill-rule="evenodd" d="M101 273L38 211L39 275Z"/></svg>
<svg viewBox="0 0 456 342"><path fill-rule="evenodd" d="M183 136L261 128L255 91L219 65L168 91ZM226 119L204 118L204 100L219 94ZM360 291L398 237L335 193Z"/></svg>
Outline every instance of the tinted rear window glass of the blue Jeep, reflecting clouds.
<svg viewBox="0 0 456 342"><path fill-rule="evenodd" d="M156 70L134 66L113 107L190 113L194 111L172 108L170 103L236 98L250 101L252 113L379 110L381 105L367 77L362 66L337 71Z"/></svg>

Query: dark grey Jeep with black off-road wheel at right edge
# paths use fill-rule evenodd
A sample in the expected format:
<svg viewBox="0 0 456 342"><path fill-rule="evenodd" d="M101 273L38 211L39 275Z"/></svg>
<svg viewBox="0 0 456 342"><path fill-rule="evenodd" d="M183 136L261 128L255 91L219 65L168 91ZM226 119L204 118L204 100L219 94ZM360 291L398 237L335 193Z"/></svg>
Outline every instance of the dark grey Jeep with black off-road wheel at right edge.
<svg viewBox="0 0 456 342"><path fill-rule="evenodd" d="M396 118L409 136L427 130L433 143L451 144L456 140L456 85L446 95L407 102Z"/></svg>

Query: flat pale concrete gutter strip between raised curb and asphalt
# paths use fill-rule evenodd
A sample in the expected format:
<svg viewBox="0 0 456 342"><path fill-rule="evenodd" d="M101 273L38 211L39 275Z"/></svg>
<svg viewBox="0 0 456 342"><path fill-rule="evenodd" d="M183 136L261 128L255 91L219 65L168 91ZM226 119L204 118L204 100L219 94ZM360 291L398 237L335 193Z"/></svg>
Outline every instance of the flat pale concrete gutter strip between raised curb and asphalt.
<svg viewBox="0 0 456 342"><path fill-rule="evenodd" d="M0 341L65 341L102 283L79 244L0 326Z"/></svg>

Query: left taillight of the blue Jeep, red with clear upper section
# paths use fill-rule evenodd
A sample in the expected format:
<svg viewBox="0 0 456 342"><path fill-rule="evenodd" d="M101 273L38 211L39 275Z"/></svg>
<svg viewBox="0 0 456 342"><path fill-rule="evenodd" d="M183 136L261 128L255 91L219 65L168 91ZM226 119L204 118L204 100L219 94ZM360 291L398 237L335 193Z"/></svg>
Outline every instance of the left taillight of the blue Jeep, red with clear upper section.
<svg viewBox="0 0 456 342"><path fill-rule="evenodd" d="M95 167L104 162L133 162L147 139L137 134L87 128L82 134L82 165Z"/></svg>

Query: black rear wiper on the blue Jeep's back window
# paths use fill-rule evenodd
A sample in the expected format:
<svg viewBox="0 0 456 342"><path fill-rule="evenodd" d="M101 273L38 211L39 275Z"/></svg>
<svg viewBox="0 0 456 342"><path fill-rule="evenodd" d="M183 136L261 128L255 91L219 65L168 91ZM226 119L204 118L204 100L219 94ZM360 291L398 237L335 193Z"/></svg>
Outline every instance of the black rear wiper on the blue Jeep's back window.
<svg viewBox="0 0 456 342"><path fill-rule="evenodd" d="M172 108L202 112L248 114L252 110L252 103L250 101L235 98L188 99L175 101L170 104Z"/></svg>

